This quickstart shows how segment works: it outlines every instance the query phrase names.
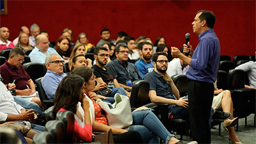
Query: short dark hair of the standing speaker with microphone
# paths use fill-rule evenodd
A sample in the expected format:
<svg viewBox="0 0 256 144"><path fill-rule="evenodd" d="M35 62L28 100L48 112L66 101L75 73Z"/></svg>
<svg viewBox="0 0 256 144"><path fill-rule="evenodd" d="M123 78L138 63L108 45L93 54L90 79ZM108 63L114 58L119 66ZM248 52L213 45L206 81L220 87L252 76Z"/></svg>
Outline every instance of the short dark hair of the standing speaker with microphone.
<svg viewBox="0 0 256 144"><path fill-rule="evenodd" d="M214 24L215 24L215 15L214 13L207 11L207 10L200 10L196 14L201 13L199 16L200 21L202 20L206 21L206 24L209 28L213 29Z"/></svg>

